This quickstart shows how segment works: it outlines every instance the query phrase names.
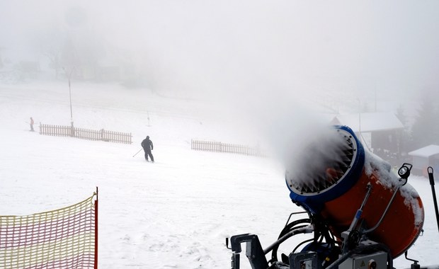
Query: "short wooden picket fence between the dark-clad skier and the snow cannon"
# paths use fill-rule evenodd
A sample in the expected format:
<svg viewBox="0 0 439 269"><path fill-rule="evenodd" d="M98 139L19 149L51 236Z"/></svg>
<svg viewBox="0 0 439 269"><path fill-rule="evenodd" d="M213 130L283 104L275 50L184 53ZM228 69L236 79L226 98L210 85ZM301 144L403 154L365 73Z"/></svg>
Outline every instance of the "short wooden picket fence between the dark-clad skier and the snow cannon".
<svg viewBox="0 0 439 269"><path fill-rule="evenodd" d="M249 156L268 157L268 152L261 147L250 147L242 144L229 144L215 141L194 140L190 142L190 148L200 151L226 152Z"/></svg>

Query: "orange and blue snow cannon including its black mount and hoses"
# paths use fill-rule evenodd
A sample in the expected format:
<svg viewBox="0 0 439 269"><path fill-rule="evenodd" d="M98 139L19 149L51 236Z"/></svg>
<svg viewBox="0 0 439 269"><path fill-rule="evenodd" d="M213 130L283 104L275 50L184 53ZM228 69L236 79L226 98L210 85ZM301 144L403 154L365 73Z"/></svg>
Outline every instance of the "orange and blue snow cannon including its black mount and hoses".
<svg viewBox="0 0 439 269"><path fill-rule="evenodd" d="M410 169L403 164L395 175L387 162L365 151L349 127L331 127L287 168L290 198L308 217L290 221L300 212L290 214L278 240L266 249L255 234L232 236L232 268L239 268L245 242L253 269L392 269L393 258L407 253L423 226L421 198L406 184ZM296 234L313 236L278 261L279 245ZM418 267L417 261L413 266Z"/></svg>

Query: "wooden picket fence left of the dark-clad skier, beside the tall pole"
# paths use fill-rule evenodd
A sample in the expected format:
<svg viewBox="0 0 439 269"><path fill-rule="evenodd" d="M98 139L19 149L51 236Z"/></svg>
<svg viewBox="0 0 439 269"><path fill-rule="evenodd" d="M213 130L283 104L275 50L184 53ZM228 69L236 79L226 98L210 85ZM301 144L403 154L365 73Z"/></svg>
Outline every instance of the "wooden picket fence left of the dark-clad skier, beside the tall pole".
<svg viewBox="0 0 439 269"><path fill-rule="evenodd" d="M102 140L106 142L132 144L132 135L127 132L113 132L107 130L89 130L66 125L46 125L40 123L40 135L56 137L77 137L88 140Z"/></svg>

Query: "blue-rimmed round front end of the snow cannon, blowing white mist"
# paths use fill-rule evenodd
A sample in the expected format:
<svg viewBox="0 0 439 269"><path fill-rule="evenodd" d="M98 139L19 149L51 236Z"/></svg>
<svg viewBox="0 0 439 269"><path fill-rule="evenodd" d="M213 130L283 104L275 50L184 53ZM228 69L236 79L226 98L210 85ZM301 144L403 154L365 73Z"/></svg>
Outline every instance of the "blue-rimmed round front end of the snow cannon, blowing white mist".
<svg viewBox="0 0 439 269"><path fill-rule="evenodd" d="M353 130L335 125L304 148L285 181L290 198L314 214L357 183L365 164L365 151Z"/></svg>

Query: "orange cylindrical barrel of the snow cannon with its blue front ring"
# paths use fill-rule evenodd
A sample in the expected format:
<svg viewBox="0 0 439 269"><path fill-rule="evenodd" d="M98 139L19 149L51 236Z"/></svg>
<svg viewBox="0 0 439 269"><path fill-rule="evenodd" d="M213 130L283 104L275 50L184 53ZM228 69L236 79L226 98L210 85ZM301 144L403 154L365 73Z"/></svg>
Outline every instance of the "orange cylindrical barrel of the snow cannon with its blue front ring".
<svg viewBox="0 0 439 269"><path fill-rule="evenodd" d="M397 187L402 185L390 165L365 151L358 137L346 126L333 126L306 145L287 169L286 183L293 202L319 215L331 232L341 239L348 230L372 185L365 206L363 224L377 224ZM404 253L421 232L424 212L421 198L409 184L401 186L377 229L367 234L389 247L396 258Z"/></svg>

